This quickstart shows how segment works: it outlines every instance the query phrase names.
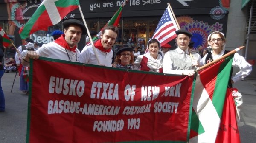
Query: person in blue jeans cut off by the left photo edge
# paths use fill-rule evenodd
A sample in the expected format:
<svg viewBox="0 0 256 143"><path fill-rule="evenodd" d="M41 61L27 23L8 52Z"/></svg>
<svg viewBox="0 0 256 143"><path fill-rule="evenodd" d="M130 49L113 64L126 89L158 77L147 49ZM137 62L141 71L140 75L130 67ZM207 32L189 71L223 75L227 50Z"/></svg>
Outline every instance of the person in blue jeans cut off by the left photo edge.
<svg viewBox="0 0 256 143"><path fill-rule="evenodd" d="M3 65L2 65L2 60L4 57L4 50L5 48L3 47L3 37L0 34L0 112L5 111L5 98L4 98L4 94L3 94L3 89L2 89L2 76L4 74L4 69L3 69Z"/></svg>

